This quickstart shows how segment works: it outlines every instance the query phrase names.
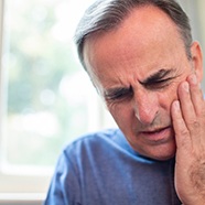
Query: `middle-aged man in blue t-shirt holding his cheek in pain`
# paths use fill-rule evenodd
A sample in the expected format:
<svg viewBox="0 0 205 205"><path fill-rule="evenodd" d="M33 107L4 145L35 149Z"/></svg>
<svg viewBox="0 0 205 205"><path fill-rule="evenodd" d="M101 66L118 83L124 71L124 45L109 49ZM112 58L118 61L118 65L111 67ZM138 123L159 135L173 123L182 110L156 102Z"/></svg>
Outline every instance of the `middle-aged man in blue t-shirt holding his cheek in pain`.
<svg viewBox="0 0 205 205"><path fill-rule="evenodd" d="M62 153L45 204L204 205L202 51L174 0L98 0L79 58L119 130Z"/></svg>

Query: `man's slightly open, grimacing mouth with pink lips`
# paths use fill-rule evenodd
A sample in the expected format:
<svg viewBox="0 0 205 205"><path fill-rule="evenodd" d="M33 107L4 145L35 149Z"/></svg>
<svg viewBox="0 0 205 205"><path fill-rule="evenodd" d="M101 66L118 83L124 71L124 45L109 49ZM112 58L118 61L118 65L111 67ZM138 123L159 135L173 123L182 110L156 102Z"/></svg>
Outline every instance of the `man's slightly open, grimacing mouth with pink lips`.
<svg viewBox="0 0 205 205"><path fill-rule="evenodd" d="M170 140L170 138L173 136L173 129L171 126L153 129L153 130L144 130L140 131L139 136L143 138L145 141L152 142L152 143L162 143Z"/></svg>

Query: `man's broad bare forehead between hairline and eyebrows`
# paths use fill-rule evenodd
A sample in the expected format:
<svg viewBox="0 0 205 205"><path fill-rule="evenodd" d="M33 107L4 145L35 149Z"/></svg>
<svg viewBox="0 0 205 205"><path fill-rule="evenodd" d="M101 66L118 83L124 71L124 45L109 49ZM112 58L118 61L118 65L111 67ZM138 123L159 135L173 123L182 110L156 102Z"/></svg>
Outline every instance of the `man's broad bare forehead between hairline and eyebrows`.
<svg viewBox="0 0 205 205"><path fill-rule="evenodd" d="M147 6L133 9L116 30L89 37L84 57L88 72L106 77L120 66L154 67L159 58L177 57L179 52L185 55L177 26L166 13Z"/></svg>

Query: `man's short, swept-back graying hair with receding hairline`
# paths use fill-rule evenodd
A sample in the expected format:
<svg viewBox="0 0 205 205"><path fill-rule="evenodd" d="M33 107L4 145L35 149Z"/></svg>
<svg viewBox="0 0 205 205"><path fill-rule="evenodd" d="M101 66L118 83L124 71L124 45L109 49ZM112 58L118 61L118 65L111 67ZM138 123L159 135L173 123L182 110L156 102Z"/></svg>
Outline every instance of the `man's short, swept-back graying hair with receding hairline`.
<svg viewBox="0 0 205 205"><path fill-rule="evenodd" d="M75 33L79 61L85 69L83 52L86 39L94 33L100 34L116 29L134 8L143 6L154 6L172 19L182 36L188 60L192 57L190 20L175 0L97 0L85 11Z"/></svg>

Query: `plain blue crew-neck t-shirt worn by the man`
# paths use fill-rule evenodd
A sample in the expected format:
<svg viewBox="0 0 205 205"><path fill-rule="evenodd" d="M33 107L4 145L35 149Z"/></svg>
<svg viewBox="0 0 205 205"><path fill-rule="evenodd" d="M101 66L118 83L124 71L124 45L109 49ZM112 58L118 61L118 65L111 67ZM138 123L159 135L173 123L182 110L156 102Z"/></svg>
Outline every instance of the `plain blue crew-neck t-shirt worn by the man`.
<svg viewBox="0 0 205 205"><path fill-rule="evenodd" d="M181 205L174 159L140 155L119 129L84 136L62 152L45 205Z"/></svg>

